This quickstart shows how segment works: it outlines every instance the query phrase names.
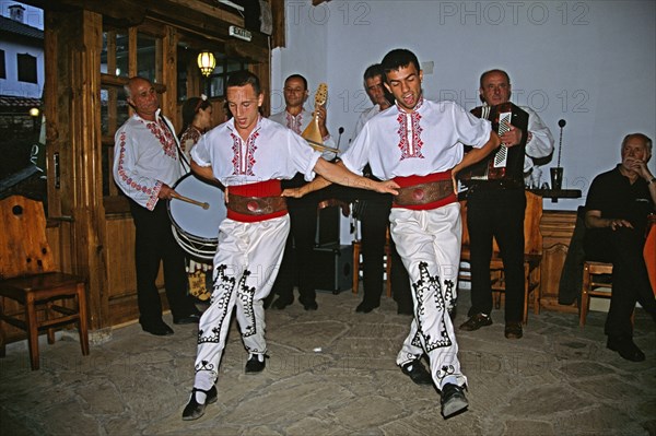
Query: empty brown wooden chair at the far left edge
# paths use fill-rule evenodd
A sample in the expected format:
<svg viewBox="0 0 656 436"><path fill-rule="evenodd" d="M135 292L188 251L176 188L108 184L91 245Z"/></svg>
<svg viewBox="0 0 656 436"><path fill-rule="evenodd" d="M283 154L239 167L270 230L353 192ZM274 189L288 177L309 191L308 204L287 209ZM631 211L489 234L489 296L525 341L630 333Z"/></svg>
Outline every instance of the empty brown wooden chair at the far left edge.
<svg viewBox="0 0 656 436"><path fill-rule="evenodd" d="M32 369L39 368L38 331L55 343L57 327L75 322L82 354L89 354L85 281L57 271L46 239L43 204L20 196L0 201L0 357L5 355L3 322L27 332ZM7 299L22 306L11 314ZM60 305L68 299L77 304Z"/></svg>

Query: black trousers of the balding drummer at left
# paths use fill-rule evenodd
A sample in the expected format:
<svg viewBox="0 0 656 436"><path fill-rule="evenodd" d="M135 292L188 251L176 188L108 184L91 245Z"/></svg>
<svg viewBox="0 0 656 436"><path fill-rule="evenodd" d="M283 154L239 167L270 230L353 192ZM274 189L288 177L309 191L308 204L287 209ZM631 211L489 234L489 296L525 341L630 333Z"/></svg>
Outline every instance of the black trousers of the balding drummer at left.
<svg viewBox="0 0 656 436"><path fill-rule="evenodd" d="M164 262L166 299L174 318L197 313L192 299L187 296L185 254L173 236L166 202L160 200L155 209L149 211L130 200L130 211L137 233L134 263L139 322L144 327L162 322L162 301L155 285L161 261Z"/></svg>

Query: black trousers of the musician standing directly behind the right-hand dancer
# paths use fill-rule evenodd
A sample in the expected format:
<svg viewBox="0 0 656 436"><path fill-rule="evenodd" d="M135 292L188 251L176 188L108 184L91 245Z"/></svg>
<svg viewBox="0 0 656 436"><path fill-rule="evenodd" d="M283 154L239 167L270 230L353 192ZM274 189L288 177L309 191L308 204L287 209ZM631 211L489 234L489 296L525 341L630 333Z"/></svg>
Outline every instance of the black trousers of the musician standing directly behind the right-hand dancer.
<svg viewBox="0 0 656 436"><path fill-rule="evenodd" d="M359 200L363 202L362 216L360 216L362 229L362 275L363 275L363 302L378 306L384 288L384 264L385 236L389 224L389 210L391 209L391 196L372 191L361 190ZM403 311L412 310L412 295L410 294L410 279L408 271L391 244L391 290L398 308ZM358 271L353 271L354 274Z"/></svg>

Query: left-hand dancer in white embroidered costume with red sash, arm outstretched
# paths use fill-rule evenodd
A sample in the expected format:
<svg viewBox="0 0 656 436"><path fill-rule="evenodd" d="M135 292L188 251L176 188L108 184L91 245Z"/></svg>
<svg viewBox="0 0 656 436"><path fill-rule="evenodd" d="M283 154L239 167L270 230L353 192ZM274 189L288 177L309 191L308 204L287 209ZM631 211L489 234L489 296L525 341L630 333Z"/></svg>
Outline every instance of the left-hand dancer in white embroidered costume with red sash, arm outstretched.
<svg viewBox="0 0 656 436"><path fill-rule="evenodd" d="M305 141L277 122L262 118L265 95L257 75L239 71L227 80L226 99L233 119L214 128L191 150L191 168L227 187L227 217L219 227L214 286L210 307L198 330L196 377L183 420L196 420L216 401L219 374L232 311L249 353L246 373L265 369L265 309L290 232L290 217L280 179L315 172L338 184L396 192L394 182L356 176L320 157Z"/></svg>

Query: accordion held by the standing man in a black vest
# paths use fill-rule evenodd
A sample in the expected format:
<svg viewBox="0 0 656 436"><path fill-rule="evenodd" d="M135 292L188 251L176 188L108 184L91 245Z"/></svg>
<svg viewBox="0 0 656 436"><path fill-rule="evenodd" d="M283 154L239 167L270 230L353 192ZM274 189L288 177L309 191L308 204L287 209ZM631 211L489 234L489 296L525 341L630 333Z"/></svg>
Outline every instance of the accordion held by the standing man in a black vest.
<svg viewBox="0 0 656 436"><path fill-rule="evenodd" d="M501 145L495 153L490 153L480 162L468 166L458 174L462 184L469 185L476 180L524 180L524 151L528 137L528 114L519 106L511 102L496 106L479 106L471 109L471 114L478 118L484 118L492 122L492 130L501 137L508 131L508 125L520 129L524 134L522 142L517 145L506 148ZM470 146L465 146L467 153Z"/></svg>

